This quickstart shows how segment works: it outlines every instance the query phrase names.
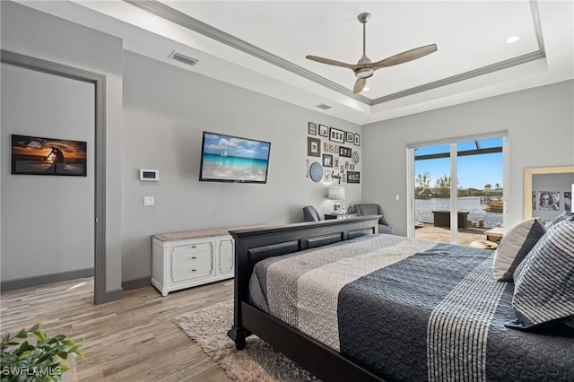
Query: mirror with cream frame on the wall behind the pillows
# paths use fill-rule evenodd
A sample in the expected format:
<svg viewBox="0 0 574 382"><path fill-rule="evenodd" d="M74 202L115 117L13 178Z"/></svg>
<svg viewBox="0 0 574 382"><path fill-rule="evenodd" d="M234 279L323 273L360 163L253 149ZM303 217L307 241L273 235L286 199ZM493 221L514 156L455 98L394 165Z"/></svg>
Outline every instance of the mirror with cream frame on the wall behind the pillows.
<svg viewBox="0 0 574 382"><path fill-rule="evenodd" d="M574 166L535 167L524 169L524 218L540 216L543 220L567 211L564 195L570 193L570 211L572 188L574 188ZM541 195L561 193L558 209L541 208Z"/></svg>

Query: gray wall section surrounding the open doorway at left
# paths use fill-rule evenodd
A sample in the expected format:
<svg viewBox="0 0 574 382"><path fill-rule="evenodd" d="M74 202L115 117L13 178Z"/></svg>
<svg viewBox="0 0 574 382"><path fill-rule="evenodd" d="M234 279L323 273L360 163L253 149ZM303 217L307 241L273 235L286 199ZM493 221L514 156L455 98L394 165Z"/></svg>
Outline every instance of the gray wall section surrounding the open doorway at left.
<svg viewBox="0 0 574 382"><path fill-rule="evenodd" d="M106 291L121 290L122 41L21 4L0 2L2 48L106 75ZM4 99L3 99L4 103ZM3 131L4 134L4 131ZM47 132L47 134L49 134ZM2 162L9 161L2 137ZM4 171L4 169L3 169ZM3 204L4 204L4 194ZM26 205L27 196L10 201ZM4 211L3 211L4 213ZM93 213L92 213L93 216ZM13 216L3 215L2 229ZM30 240L28 232L18 239ZM93 247L89 248L93 256ZM4 253L2 254L4 261Z"/></svg>

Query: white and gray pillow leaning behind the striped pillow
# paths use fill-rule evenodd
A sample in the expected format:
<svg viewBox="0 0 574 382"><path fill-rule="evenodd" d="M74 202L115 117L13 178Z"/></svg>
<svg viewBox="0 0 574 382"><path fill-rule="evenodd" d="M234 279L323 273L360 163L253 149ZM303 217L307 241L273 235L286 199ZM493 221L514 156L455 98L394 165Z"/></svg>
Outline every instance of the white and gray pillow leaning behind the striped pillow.
<svg viewBox="0 0 574 382"><path fill-rule="evenodd" d="M540 218L519 221L512 226L504 234L494 252L492 263L494 279L497 282L511 282L512 273L545 232L544 223Z"/></svg>

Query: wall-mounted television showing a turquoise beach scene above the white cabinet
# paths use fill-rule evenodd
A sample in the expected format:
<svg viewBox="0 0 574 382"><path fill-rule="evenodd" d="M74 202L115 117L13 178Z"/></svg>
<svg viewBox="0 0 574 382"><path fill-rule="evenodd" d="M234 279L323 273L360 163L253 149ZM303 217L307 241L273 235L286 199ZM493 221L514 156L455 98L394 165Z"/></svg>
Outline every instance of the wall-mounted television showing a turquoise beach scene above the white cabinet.
<svg viewBox="0 0 574 382"><path fill-rule="evenodd" d="M266 183L271 143L204 132L199 180Z"/></svg>

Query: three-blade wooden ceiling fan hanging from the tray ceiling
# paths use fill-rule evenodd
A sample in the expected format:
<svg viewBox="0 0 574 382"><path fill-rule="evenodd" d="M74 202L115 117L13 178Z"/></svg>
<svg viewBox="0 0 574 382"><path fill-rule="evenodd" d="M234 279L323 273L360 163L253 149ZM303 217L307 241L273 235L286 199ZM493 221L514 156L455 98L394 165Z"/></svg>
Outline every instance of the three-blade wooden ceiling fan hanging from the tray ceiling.
<svg viewBox="0 0 574 382"><path fill-rule="evenodd" d="M376 70L387 66L404 64L409 61L413 61L414 59L421 58L422 56L430 55L431 53L437 51L437 44L431 44L426 45L424 47L407 50L403 53L399 53L398 55L390 56L385 58L384 60L380 60L377 61L376 63L373 63L370 61L370 58L365 53L367 46L367 22L369 22L370 20L370 13L361 13L357 17L357 19L359 19L359 22L362 23L362 57L357 62L357 64L346 64L341 61L336 61L330 58L323 58L317 56L305 57L308 58L309 60L317 61L317 63L342 66L351 69L355 73L355 77L357 77L357 81L355 82L355 85L352 87L352 92L355 94L363 90L365 84L367 84L367 78L372 76Z"/></svg>

